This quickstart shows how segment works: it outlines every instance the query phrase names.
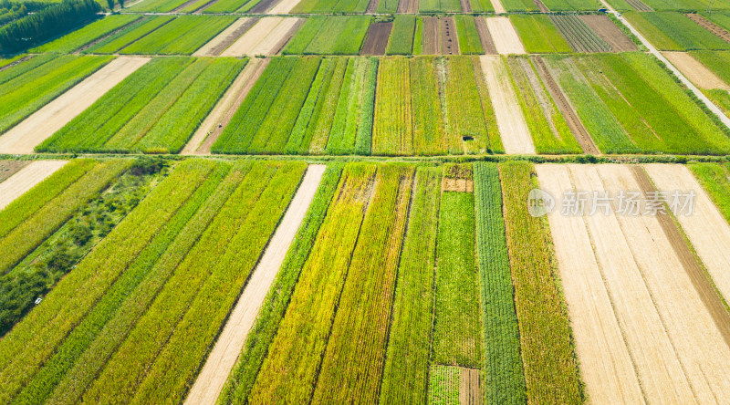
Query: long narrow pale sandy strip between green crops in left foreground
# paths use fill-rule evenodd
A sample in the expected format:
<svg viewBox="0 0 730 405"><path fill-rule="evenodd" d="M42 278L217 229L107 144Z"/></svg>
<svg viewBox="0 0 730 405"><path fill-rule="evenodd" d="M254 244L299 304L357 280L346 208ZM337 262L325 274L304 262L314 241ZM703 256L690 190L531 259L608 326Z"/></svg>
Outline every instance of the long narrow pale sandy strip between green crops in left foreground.
<svg viewBox="0 0 730 405"><path fill-rule="evenodd" d="M289 246L297 235L299 225L304 220L309 204L314 199L325 169L324 165L308 167L287 213L276 228L276 233L272 236L266 252L256 265L243 294L238 298L231 316L225 323L223 332L215 342L213 351L205 360L203 370L185 400L186 404L213 405L218 399L225 380L228 379L228 374L235 365L235 360L244 348L248 331L254 326L258 310L263 305L264 298L274 283L276 273L284 262Z"/></svg>

